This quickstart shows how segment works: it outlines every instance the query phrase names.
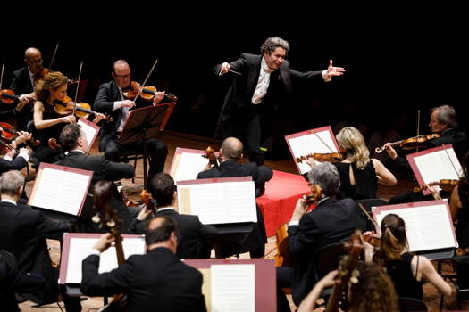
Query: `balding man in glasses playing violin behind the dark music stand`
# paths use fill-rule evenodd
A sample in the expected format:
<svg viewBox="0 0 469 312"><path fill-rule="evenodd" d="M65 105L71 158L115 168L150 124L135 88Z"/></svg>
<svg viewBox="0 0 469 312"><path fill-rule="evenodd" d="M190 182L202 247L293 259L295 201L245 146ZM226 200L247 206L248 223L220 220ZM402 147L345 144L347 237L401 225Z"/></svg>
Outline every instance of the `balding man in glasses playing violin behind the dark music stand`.
<svg viewBox="0 0 469 312"><path fill-rule="evenodd" d="M99 86L94 109L113 117L113 121L105 123L101 128L99 151L105 152L105 157L109 160L121 161L126 152L142 152L143 144L119 142L119 135L129 118L130 109L136 106L136 103L126 100L123 95L131 83L129 64L124 60L114 62L112 76L113 81ZM163 92L156 92L153 104L159 103L163 97ZM147 139L147 153L150 158L147 180L150 181L156 173L163 172L168 149L158 139L151 138Z"/></svg>

